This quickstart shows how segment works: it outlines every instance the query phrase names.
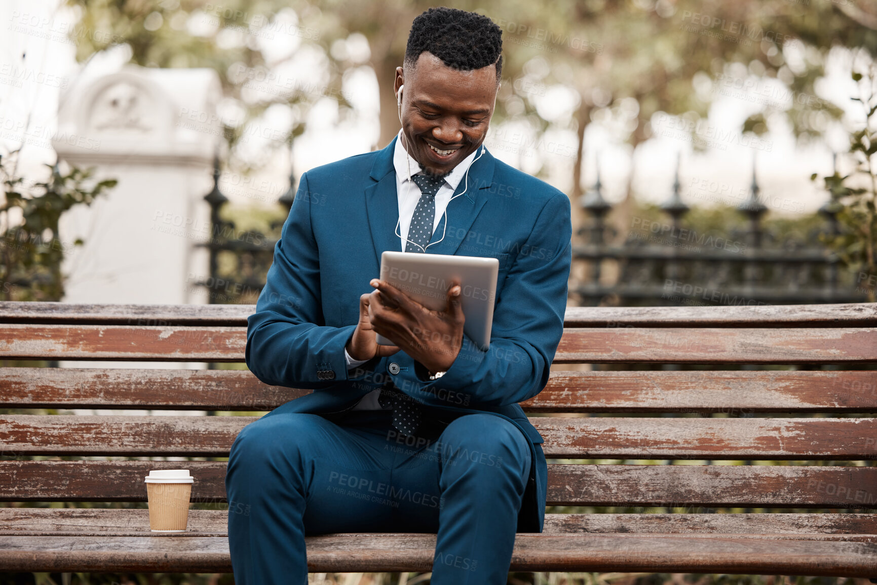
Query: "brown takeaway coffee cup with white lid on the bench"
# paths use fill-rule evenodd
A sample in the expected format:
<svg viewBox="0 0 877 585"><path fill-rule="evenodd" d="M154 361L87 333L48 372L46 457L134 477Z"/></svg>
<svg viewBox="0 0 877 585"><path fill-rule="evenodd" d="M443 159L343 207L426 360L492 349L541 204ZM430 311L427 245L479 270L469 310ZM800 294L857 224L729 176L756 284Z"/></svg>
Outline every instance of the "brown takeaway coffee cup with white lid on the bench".
<svg viewBox="0 0 877 585"><path fill-rule="evenodd" d="M189 521L189 496L195 478L189 469L153 469L146 476L149 529L153 532L185 532Z"/></svg>

